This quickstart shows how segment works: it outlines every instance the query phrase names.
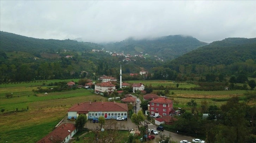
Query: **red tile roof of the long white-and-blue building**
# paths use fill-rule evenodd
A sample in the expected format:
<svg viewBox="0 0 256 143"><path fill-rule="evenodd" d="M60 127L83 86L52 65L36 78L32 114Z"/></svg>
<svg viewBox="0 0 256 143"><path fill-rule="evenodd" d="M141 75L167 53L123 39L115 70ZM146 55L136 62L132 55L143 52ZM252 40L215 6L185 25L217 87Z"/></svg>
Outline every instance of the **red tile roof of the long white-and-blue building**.
<svg viewBox="0 0 256 143"><path fill-rule="evenodd" d="M68 111L87 113L89 111L128 111L128 106L118 102L84 102L73 105Z"/></svg>

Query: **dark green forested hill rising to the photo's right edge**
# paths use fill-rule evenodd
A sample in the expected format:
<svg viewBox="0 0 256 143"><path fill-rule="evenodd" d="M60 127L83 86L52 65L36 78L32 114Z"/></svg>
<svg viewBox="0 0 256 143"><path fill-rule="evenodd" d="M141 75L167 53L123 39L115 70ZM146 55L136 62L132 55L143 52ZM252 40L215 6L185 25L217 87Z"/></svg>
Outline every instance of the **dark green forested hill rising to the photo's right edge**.
<svg viewBox="0 0 256 143"><path fill-rule="evenodd" d="M226 38L184 54L167 64L230 65L235 62L256 60L256 38Z"/></svg>

